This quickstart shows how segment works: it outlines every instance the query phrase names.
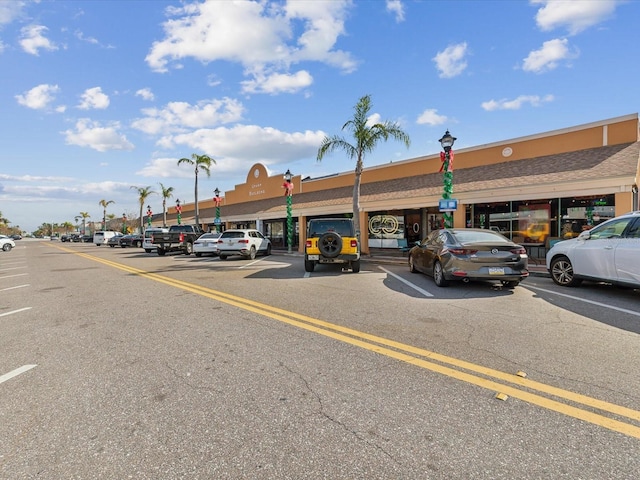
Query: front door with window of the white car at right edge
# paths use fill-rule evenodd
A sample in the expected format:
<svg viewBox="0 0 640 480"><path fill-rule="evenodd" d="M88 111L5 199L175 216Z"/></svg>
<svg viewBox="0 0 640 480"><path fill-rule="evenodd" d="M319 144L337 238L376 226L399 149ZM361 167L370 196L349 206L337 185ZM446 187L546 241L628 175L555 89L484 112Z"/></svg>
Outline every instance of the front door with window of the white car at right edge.
<svg viewBox="0 0 640 480"><path fill-rule="evenodd" d="M571 263L576 275L601 280L616 280L615 252L623 232L633 218L619 218L598 225L589 231L572 252Z"/></svg>

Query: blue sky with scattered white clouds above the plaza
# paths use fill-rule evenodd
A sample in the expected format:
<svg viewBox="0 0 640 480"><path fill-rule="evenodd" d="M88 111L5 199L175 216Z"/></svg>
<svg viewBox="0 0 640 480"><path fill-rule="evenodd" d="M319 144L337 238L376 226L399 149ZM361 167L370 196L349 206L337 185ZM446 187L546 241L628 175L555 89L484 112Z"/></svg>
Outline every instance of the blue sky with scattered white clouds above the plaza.
<svg viewBox="0 0 640 480"><path fill-rule="evenodd" d="M411 138L365 167L638 111L640 2L0 0L0 212L31 231L138 214L208 154L200 199L249 167L319 177L365 94ZM458 166L459 168L461 166ZM159 195L149 197L161 212Z"/></svg>

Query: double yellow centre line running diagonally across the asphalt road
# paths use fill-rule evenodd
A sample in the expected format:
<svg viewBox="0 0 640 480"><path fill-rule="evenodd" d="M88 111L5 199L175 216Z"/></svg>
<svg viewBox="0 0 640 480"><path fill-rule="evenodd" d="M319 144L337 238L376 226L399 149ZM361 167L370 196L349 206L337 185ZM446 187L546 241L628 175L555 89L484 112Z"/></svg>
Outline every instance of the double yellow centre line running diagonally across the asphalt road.
<svg viewBox="0 0 640 480"><path fill-rule="evenodd" d="M61 247L57 247L61 248ZM63 248L64 249L64 248ZM383 337L370 335L365 332L353 330L347 327L336 325L333 323L325 322L306 315L300 315L288 310L280 309L270 305L262 304L249 300L246 298L238 297L228 293L213 290L207 287L202 287L192 283L184 282L182 280L176 280L156 273L147 272L134 267L130 267L121 263L116 263L110 260L106 260L93 255L79 253L74 250L64 249L71 253L77 254L92 261L97 261L105 265L124 270L126 272L139 275L160 283L164 283L169 286L181 288L196 295L201 295L207 298L211 298L220 302L224 302L229 305L248 310L259 315L263 315L280 322L287 323L289 325L303 328L305 330L339 340L350 345L358 346L366 350L385 355L396 360L400 360L411 365L415 365L424 369L431 370L433 372L446 375L457 380L467 382L472 385L476 385L494 392L500 392L507 394L511 397L518 398L525 402L537 405L564 415L568 415L586 422L593 423L595 425L602 426L604 428L623 433L625 435L640 438L640 427L625 423L619 420L606 417L602 414L595 413L589 410L584 410L576 406L568 405L566 403L553 400L551 398L543 397L535 393L531 393L526 390L522 390L517 387L521 387L527 390L535 390L537 392L545 393L557 398L561 398L575 404L591 407L601 411L609 412L614 415L627 417L629 419L640 421L640 411L633 410L621 405L616 405L603 400L598 400L586 395L563 390L558 387L546 385L541 382L519 377L514 374L501 372L491 368L483 367L471 362L459 360L446 355L441 355L436 352L425 350L422 348L413 347L400 342L389 340ZM386 348L389 347L389 348ZM421 358L422 357L422 358ZM425 360L429 359L430 361ZM438 363L435 363L438 362ZM447 366L450 365L450 366ZM491 377L503 382L510 383L515 386L499 383L490 378L483 378L480 376L472 375L468 372L456 370L451 367L467 370L476 374L483 375L484 377Z"/></svg>

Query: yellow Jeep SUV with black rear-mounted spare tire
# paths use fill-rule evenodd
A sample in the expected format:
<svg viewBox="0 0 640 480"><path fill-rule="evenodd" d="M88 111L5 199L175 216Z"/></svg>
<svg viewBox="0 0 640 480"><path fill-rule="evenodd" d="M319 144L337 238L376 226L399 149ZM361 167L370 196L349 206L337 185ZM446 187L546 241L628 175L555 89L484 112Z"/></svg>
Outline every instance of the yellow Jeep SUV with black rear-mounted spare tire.
<svg viewBox="0 0 640 480"><path fill-rule="evenodd" d="M350 218L317 218L307 226L304 269L313 272L317 263L341 263L353 273L360 271L360 242Z"/></svg>

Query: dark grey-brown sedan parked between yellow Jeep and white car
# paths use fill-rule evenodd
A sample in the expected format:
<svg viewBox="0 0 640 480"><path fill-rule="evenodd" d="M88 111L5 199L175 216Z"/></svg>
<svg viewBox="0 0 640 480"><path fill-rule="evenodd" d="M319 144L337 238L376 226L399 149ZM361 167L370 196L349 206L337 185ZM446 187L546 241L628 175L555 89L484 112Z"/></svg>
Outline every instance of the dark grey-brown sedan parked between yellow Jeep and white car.
<svg viewBox="0 0 640 480"><path fill-rule="evenodd" d="M409 270L433 277L439 287L458 280L498 280L509 288L529 276L529 257L518 245L493 230L434 230L409 250Z"/></svg>

